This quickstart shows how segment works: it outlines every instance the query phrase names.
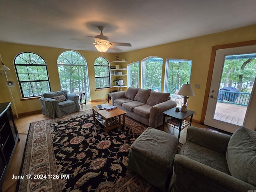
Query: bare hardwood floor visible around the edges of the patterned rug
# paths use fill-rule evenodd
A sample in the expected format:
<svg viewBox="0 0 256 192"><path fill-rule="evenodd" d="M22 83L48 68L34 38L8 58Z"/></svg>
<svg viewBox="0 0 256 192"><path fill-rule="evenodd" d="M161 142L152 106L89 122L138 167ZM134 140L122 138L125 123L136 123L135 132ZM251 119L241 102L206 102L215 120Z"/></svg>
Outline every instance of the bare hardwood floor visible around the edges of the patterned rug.
<svg viewBox="0 0 256 192"><path fill-rule="evenodd" d="M108 100L106 101L99 101L99 102L86 102L86 105L83 104L83 106L81 107L81 110L88 110L90 109L91 106L96 106L98 104L105 104L108 103ZM110 101L111 104L111 101ZM18 142L16 149L14 151L14 154L12 156L12 160L10 163L10 166L8 168L8 171L6 173L6 177L5 177L5 181L4 184L2 186L2 191L3 192L15 192L16 190L16 185L17 185L17 180L16 179L12 179L13 175L18 176L20 173L20 167L21 167L21 163L22 163L22 158L23 158L23 153L24 153L24 148L26 145L26 138L27 138L27 134L28 134L28 129L30 126L31 122L36 122L36 121L40 121L40 120L45 120L45 119L49 119L50 117L43 115L43 114L30 114L27 116L20 116L19 119L15 119L15 124L17 126L18 129L18 133L20 136L20 141ZM193 126L196 127L200 127L200 128L206 128L206 126L204 125L200 125L197 123L192 122ZM162 126L160 126L158 129L162 130ZM165 125L164 127L164 131L168 132L170 134L175 135L176 137L178 137L178 130L175 128L172 128L168 125ZM182 144L184 144L185 140L186 140L186 132L187 132L187 128L185 128L184 130L181 131L180 134L180 142Z"/></svg>

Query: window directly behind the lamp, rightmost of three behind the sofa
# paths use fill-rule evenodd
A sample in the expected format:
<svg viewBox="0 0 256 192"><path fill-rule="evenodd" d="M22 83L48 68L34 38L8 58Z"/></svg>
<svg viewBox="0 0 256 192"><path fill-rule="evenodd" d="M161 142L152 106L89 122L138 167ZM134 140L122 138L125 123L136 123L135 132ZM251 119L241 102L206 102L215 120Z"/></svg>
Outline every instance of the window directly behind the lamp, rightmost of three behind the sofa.
<svg viewBox="0 0 256 192"><path fill-rule="evenodd" d="M191 60L168 59L165 68L164 92L174 94L190 82Z"/></svg>

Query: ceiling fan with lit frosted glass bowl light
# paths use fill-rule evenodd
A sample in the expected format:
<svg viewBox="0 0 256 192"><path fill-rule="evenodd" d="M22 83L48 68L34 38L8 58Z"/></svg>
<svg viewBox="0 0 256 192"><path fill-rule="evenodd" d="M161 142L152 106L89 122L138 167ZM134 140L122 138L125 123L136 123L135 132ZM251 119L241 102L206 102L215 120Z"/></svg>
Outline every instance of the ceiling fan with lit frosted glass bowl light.
<svg viewBox="0 0 256 192"><path fill-rule="evenodd" d="M129 47L132 46L130 43L109 42L108 37L104 36L102 33L105 30L105 27L98 26L98 29L100 30L100 35L96 35L95 37L93 37L95 43L92 43L92 44L96 47L96 49L99 52L106 52L108 50L108 48L110 48L111 46L129 46Z"/></svg>

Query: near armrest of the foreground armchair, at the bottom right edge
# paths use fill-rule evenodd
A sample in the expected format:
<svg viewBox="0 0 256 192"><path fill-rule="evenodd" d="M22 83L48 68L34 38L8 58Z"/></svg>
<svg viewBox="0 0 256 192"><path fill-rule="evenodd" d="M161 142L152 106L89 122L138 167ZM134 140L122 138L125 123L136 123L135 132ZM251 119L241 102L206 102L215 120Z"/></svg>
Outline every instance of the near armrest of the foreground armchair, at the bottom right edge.
<svg viewBox="0 0 256 192"><path fill-rule="evenodd" d="M256 187L182 155L174 157L172 192L246 192Z"/></svg>

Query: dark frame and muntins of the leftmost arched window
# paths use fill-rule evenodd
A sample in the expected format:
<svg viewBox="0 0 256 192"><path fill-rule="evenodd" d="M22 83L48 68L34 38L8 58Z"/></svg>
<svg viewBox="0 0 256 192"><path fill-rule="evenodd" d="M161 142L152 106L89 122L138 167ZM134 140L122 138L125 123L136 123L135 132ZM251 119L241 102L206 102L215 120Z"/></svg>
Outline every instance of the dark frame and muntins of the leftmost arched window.
<svg viewBox="0 0 256 192"><path fill-rule="evenodd" d="M38 59L40 58L40 59L42 59L42 60L44 61L44 64L33 64L33 63L36 62L36 61L34 61L33 63L30 63L30 64L17 64L17 63L16 63L16 59L17 59L18 57L22 58L20 55L26 54L26 53L29 54L30 61L32 61L30 54L35 54L36 56L38 56L38 58L37 58L36 60L38 60ZM24 59L24 58L22 58L22 59ZM26 60L24 60L24 61L26 61ZM27 63L27 62L28 62L28 60L26 61L26 63ZM46 74L47 74L47 80L28 80L28 81L21 81L21 80L20 80L19 73L18 73L18 70L17 70L17 66L31 66L31 65L33 65L33 66L45 66L45 70L46 70ZM40 55L38 55L38 54L36 54L36 53L33 53L33 52L21 52L21 53L19 53L18 55L16 55L16 57L14 58L14 68L15 68L16 76L17 76L18 83L19 83L19 86L20 86L20 93L21 93L21 95L22 95L22 98L36 98L36 97L39 97L39 96L41 96L41 95L43 94L42 87L40 87L42 94L40 94L40 95L34 95L34 91L33 91L33 88L32 88L32 86L31 86L31 83L32 83L32 82L48 82L48 85L49 85L48 89L49 89L49 92L51 92L51 86L50 86L49 74L48 74L48 70L47 70L47 64L46 64L45 60L44 60ZM38 70L38 68L37 68L37 70ZM38 77L39 77L39 73L37 73L37 74L38 74ZM29 77L29 72L28 72L28 77ZM22 83L30 83L31 92L33 93L34 96L28 96L28 97L25 97L25 96L24 96L24 90L22 89Z"/></svg>

